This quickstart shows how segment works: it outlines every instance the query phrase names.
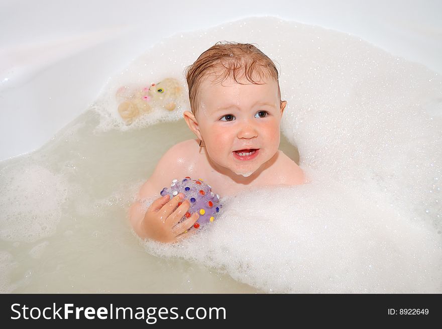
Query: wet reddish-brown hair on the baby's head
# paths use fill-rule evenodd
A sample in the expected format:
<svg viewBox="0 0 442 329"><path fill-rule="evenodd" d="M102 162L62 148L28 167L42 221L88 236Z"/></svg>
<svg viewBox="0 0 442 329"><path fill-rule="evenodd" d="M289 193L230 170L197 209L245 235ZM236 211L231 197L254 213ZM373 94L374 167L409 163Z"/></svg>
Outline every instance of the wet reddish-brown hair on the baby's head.
<svg viewBox="0 0 442 329"><path fill-rule="evenodd" d="M261 50L249 43L236 43L219 41L204 51L198 59L185 69L189 100L192 113L196 115L200 99L199 88L201 82L208 76L215 77L213 83L223 82L228 78L239 80L247 78L254 84L263 78L272 78L278 84L278 97L281 99L279 88L279 74L275 63ZM253 77L258 77L254 80Z"/></svg>

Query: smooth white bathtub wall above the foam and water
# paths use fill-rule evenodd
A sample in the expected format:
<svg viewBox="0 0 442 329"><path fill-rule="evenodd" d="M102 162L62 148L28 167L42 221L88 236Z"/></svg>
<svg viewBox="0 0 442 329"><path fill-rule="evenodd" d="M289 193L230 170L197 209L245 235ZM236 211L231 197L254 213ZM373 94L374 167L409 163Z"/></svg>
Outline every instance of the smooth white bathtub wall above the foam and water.
<svg viewBox="0 0 442 329"><path fill-rule="evenodd" d="M0 4L0 160L46 143L109 76L162 38L249 16L277 16L357 35L442 73L437 1L172 1Z"/></svg>

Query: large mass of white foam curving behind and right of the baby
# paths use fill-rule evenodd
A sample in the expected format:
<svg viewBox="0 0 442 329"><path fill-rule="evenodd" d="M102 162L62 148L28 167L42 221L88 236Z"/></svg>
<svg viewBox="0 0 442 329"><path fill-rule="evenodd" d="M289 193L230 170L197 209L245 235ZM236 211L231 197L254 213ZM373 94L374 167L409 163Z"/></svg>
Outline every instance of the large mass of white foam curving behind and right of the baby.
<svg viewBox="0 0 442 329"><path fill-rule="evenodd" d="M173 48L184 67L219 40L256 43L277 62L281 130L309 182L222 199L209 231L147 250L266 292L441 292L440 76L358 37L275 18L171 37L145 56Z"/></svg>

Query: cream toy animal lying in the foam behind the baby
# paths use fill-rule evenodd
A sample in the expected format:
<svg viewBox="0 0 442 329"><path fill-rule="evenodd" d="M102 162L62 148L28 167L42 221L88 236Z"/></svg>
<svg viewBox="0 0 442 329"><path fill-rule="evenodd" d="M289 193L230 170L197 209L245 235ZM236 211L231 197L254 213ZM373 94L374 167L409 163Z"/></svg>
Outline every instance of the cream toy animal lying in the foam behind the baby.
<svg viewBox="0 0 442 329"><path fill-rule="evenodd" d="M152 83L150 87L135 90L123 86L116 94L120 102L118 113L125 123L130 125L138 117L151 112L154 107L163 107L168 111L173 111L182 91L179 81L173 78L166 78L161 82Z"/></svg>

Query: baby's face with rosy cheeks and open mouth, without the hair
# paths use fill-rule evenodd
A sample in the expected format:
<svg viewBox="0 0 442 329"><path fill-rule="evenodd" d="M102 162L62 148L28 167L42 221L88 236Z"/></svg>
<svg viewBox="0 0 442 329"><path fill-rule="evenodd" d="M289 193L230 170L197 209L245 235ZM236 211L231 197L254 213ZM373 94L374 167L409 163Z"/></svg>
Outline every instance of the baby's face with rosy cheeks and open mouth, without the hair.
<svg viewBox="0 0 442 329"><path fill-rule="evenodd" d="M217 166L249 176L278 151L286 102L281 103L273 79L259 81L264 84L241 82L247 84L232 79L214 84L205 79L196 119L210 159Z"/></svg>

